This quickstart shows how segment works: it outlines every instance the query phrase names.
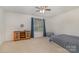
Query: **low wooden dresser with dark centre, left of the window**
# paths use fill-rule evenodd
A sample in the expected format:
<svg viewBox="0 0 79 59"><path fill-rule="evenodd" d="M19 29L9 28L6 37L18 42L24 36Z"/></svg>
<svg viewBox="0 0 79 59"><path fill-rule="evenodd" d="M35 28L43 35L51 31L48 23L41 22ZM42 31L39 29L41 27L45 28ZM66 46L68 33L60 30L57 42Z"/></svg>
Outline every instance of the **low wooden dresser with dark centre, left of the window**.
<svg viewBox="0 0 79 59"><path fill-rule="evenodd" d="M14 41L17 40L27 40L31 38L30 31L14 31Z"/></svg>

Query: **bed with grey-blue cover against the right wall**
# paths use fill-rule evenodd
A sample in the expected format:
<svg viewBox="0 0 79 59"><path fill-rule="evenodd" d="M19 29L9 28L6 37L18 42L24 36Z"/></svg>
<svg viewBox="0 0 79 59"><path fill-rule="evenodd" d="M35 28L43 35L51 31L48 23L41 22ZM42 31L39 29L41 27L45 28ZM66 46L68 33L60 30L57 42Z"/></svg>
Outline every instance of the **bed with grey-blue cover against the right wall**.
<svg viewBox="0 0 79 59"><path fill-rule="evenodd" d="M51 35L49 41L53 41L72 53L79 53L79 37L61 34Z"/></svg>

